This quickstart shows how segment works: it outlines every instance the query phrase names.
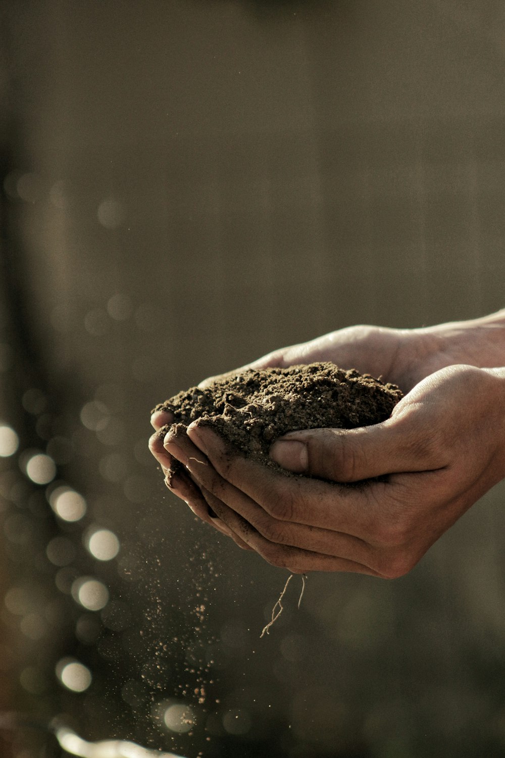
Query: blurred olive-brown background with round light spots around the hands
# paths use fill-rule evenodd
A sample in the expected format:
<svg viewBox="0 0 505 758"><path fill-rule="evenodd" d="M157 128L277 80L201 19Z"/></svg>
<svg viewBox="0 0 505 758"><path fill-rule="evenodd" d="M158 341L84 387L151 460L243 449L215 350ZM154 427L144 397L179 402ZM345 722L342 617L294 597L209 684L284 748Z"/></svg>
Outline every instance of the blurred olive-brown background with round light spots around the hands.
<svg viewBox="0 0 505 758"><path fill-rule="evenodd" d="M503 486L404 578L195 522L151 408L356 323L503 307L505 10L3 0L0 753L505 753ZM347 367L344 367L347 368ZM97 758L101 758L98 756Z"/></svg>

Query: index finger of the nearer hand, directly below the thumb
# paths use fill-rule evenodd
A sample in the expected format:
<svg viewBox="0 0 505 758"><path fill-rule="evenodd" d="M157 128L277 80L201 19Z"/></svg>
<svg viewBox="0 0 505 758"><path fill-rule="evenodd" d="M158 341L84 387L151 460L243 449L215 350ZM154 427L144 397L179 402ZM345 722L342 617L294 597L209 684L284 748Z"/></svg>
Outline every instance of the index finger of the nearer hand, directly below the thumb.
<svg viewBox="0 0 505 758"><path fill-rule="evenodd" d="M331 529L369 543L373 541L381 515L388 506L385 482L345 486L283 475L230 452L223 440L205 426L190 424L188 436L197 444L206 464L200 465L198 456L192 456L192 460L185 460L185 465L199 484L233 509L240 507L235 503L236 493L240 492L280 521Z"/></svg>

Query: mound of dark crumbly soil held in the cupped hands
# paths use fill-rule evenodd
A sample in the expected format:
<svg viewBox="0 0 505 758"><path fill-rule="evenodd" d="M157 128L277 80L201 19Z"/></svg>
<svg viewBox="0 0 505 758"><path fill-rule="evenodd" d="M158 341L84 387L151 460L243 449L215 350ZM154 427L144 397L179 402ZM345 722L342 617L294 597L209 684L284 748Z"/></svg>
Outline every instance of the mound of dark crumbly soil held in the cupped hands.
<svg viewBox="0 0 505 758"><path fill-rule="evenodd" d="M210 426L244 456L280 469L268 453L286 432L378 424L402 397L396 385L354 368L311 363L226 374L205 388L179 392L153 412L172 413L179 433L192 421Z"/></svg>

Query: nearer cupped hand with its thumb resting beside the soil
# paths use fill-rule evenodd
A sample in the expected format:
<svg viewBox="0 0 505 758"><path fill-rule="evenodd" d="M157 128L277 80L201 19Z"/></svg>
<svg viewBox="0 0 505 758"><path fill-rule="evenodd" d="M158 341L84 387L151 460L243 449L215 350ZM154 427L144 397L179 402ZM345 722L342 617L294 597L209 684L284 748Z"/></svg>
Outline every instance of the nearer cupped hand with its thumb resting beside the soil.
<svg viewBox="0 0 505 758"><path fill-rule="evenodd" d="M198 422L165 446L198 485L200 505L273 565L394 578L505 475L504 387L503 369L454 365L416 385L382 424L274 443L286 468L330 481L233 455Z"/></svg>

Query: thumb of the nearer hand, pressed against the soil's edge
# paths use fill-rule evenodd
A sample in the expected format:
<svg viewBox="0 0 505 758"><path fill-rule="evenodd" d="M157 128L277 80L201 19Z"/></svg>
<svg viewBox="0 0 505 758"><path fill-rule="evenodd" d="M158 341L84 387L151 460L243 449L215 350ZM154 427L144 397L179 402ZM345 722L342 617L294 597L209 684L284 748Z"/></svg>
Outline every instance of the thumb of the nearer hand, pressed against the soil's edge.
<svg viewBox="0 0 505 758"><path fill-rule="evenodd" d="M351 482L439 468L429 447L413 426L388 418L357 429L289 432L273 443L270 457L296 474Z"/></svg>

